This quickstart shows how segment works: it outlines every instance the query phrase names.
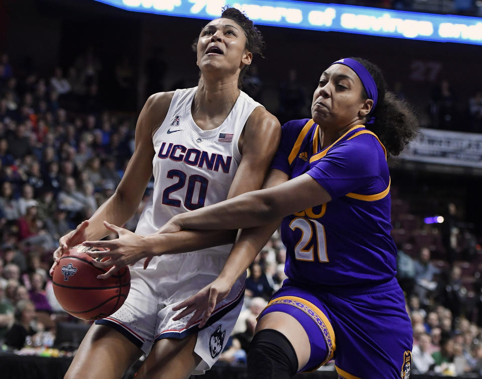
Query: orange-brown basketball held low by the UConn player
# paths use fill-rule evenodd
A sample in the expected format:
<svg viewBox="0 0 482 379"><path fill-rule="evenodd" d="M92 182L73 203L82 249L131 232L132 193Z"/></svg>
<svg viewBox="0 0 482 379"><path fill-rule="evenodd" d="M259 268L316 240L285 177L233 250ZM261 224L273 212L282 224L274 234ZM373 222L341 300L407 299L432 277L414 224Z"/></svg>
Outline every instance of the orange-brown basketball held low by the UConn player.
<svg viewBox="0 0 482 379"><path fill-rule="evenodd" d="M92 265L85 254L92 247L77 245L60 258L52 276L54 294L66 312L84 320L104 318L124 304L131 289L131 273L125 267L107 279L97 279L104 270Z"/></svg>

